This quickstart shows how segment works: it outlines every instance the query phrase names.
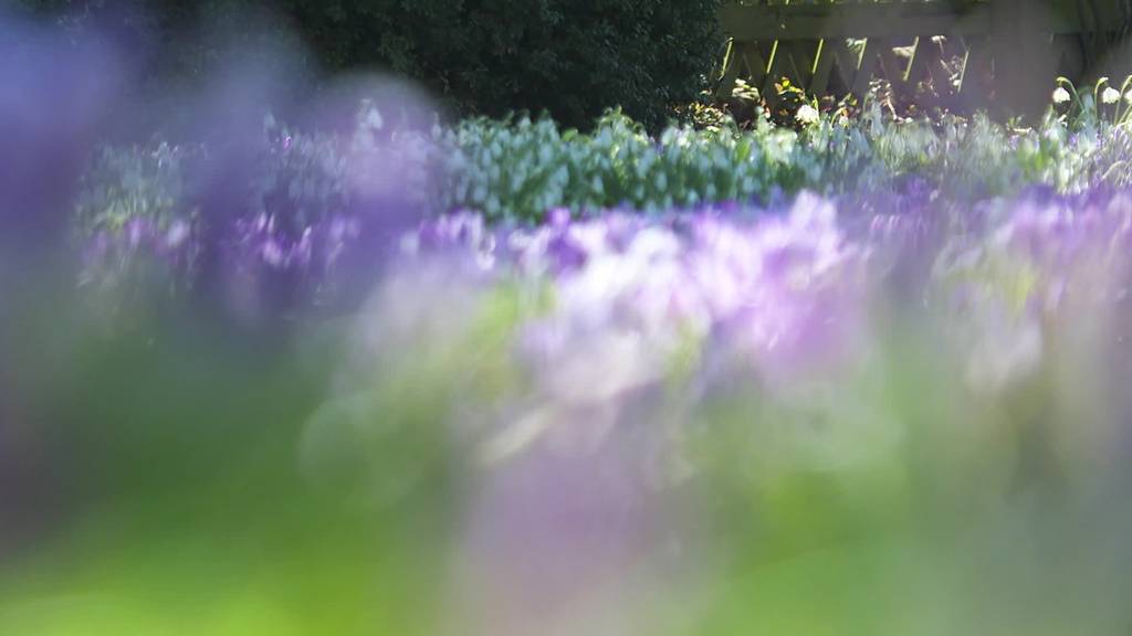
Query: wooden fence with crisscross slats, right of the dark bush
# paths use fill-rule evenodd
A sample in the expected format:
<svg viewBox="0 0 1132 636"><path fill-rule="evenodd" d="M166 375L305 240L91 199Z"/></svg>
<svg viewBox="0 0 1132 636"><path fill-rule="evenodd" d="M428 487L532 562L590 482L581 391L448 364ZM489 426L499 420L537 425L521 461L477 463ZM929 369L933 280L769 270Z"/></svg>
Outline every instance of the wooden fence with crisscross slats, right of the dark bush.
<svg viewBox="0 0 1132 636"><path fill-rule="evenodd" d="M927 80L969 103L1024 108L1044 102L1057 75L1125 62L1132 0L747 0L719 18L729 38L720 98L737 79L773 103L782 78L811 94L861 95L884 77L895 91Z"/></svg>

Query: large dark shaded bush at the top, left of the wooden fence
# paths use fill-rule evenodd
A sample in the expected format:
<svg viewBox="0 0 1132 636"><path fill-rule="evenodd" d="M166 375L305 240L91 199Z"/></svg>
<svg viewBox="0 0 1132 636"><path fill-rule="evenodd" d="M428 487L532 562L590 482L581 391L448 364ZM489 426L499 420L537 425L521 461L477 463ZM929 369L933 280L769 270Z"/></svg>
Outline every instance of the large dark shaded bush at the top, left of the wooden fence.
<svg viewBox="0 0 1132 636"><path fill-rule="evenodd" d="M115 0L16 1L69 12L72 25L101 14L181 72L211 54L188 34L266 10L325 70L388 69L465 114L548 111L567 126L611 106L661 123L696 97L719 44L720 0L149 0L127 9Z"/></svg>

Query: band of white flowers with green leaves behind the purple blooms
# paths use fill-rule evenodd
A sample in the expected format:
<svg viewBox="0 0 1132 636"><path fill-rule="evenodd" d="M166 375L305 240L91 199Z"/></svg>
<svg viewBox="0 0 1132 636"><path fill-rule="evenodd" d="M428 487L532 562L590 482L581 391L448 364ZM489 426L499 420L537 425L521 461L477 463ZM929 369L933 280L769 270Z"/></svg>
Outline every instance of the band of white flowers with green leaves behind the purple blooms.
<svg viewBox="0 0 1132 636"><path fill-rule="evenodd" d="M388 156L396 156L398 179L410 180L398 181L396 191L414 198L383 203L381 209L472 209L491 221L517 222L540 221L560 207L582 215L610 207L660 213L767 203L803 189L837 196L923 183L978 199L1034 183L1073 192L1099 181L1132 181L1132 135L1124 127L1074 132L1054 117L1039 128L1010 129L985 117L933 126L886 121L868 111L855 120L823 117L800 130L762 119L749 130L674 126L653 136L612 111L589 132L548 119L473 118L376 145L366 141L366 121L359 118L353 135L269 126L248 166L240 212L269 216L294 234L327 217L363 212L374 206L359 200L359 183L384 170L372 166L388 165ZM84 181L83 226L113 230L136 216L190 212L177 204L192 200L182 177L187 152L161 144L104 151Z"/></svg>

